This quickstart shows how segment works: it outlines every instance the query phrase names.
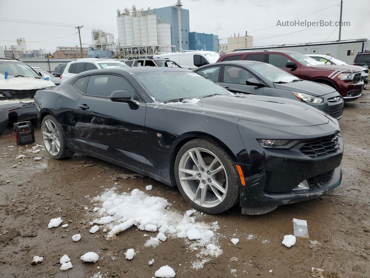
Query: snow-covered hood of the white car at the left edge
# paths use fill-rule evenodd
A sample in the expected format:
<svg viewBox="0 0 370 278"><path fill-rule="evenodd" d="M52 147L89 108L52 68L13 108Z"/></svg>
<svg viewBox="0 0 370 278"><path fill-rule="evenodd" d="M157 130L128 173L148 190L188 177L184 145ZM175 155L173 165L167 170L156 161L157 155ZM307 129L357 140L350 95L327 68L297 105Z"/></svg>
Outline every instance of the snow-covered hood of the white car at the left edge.
<svg viewBox="0 0 370 278"><path fill-rule="evenodd" d="M46 87L54 87L55 84L50 80L36 79L31 77L10 77L5 79L3 74L0 74L0 89L1 90L34 90Z"/></svg>

